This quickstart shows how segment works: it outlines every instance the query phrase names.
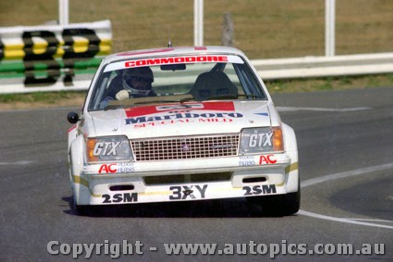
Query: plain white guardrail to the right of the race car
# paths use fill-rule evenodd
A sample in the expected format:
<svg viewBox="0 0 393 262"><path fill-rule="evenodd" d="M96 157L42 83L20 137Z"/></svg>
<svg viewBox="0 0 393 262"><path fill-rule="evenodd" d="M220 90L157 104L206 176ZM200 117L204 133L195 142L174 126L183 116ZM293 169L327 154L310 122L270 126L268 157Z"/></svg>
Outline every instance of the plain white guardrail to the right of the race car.
<svg viewBox="0 0 393 262"><path fill-rule="evenodd" d="M393 73L393 53L252 60L262 79Z"/></svg>

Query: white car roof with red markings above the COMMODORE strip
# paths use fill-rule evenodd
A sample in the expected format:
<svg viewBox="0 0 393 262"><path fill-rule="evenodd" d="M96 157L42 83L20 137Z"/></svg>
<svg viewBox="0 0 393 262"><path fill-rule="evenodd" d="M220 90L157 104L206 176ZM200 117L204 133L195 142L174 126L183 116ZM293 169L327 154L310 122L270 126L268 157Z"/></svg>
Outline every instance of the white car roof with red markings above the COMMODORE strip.
<svg viewBox="0 0 393 262"><path fill-rule="evenodd" d="M104 63L111 63L124 59L138 59L140 57L160 57L171 55L196 55L196 54L232 54L244 57L242 51L228 46L176 46L165 48L152 48L142 50L132 50L108 55L104 58Z"/></svg>

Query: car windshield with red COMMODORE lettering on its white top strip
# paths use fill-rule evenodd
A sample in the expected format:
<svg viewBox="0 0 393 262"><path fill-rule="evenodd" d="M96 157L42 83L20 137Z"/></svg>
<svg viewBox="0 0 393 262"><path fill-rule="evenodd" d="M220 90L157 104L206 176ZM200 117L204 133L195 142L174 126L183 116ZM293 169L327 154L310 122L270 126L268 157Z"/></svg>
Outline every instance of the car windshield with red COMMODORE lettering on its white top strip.
<svg viewBox="0 0 393 262"><path fill-rule="evenodd" d="M88 110L225 99L267 99L260 82L241 57L158 57L105 66L95 83Z"/></svg>

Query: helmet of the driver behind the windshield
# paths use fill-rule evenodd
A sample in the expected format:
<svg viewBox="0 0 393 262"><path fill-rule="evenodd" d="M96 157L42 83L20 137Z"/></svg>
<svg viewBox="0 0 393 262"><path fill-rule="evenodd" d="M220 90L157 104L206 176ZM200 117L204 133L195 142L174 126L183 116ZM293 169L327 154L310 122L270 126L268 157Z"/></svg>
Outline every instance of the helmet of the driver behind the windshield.
<svg viewBox="0 0 393 262"><path fill-rule="evenodd" d="M144 82L144 85L134 86L132 80L137 79ZM151 92L151 83L154 81L153 72L148 66L130 68L123 71L123 87L130 90L132 94L147 96Z"/></svg>

